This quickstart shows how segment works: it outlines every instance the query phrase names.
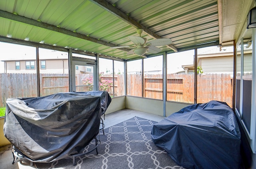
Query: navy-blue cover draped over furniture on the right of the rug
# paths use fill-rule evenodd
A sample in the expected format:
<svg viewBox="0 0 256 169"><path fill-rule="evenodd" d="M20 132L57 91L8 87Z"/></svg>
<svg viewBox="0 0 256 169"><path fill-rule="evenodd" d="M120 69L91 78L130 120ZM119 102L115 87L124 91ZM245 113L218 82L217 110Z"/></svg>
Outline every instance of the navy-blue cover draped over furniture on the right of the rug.
<svg viewBox="0 0 256 169"><path fill-rule="evenodd" d="M193 104L154 124L153 142L189 169L238 169L240 130L224 102Z"/></svg>

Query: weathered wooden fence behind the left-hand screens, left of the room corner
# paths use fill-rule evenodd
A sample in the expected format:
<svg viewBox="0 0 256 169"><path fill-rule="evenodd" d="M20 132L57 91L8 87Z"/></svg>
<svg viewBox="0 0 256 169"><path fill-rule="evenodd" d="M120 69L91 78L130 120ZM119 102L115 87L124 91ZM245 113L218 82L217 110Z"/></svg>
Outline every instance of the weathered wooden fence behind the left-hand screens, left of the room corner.
<svg viewBox="0 0 256 169"><path fill-rule="evenodd" d="M76 91L88 91L83 80L90 78L91 74L76 75ZM112 81L113 75L104 75L103 80ZM124 95L124 75L115 75L115 96ZM37 97L37 75L36 73L0 73L0 107L6 106L7 98ZM46 96L58 92L69 92L68 74L40 74L40 96ZM113 95L113 85L108 92Z"/></svg>

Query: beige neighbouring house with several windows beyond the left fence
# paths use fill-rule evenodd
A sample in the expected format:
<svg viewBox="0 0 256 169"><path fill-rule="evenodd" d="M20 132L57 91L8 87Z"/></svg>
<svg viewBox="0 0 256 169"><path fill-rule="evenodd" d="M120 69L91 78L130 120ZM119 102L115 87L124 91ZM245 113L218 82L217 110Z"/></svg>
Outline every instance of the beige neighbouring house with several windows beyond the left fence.
<svg viewBox="0 0 256 169"><path fill-rule="evenodd" d="M40 73L69 73L68 55L65 52L41 49L39 57ZM20 55L18 57L2 60L4 62L4 73L36 73L36 59L31 55ZM19 59L18 59L19 58ZM76 65L76 74L92 73L91 66Z"/></svg>

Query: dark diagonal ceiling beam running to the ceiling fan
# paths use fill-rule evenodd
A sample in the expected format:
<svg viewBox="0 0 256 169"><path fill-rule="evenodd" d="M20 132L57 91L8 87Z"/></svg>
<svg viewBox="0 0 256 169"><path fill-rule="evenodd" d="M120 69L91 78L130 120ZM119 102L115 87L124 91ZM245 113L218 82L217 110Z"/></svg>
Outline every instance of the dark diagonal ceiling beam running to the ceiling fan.
<svg viewBox="0 0 256 169"><path fill-rule="evenodd" d="M90 0L90 2L96 4L97 6L100 6L104 10L110 12L111 14L113 14L114 16L118 17L119 19L123 20L124 22L130 24L131 26L133 26L137 29L143 29L144 32L147 33L150 37L152 37L154 39L162 38L159 35L157 35L156 33L154 33L153 31L151 31L148 28L146 28L145 26L143 26L142 24L138 23L138 21L134 20L132 17L128 16L127 14L125 14L124 12L119 10L118 8L114 7L109 2L107 2L105 0ZM170 49L172 49L173 51L178 52L178 49L174 45L166 45L166 46L169 47Z"/></svg>

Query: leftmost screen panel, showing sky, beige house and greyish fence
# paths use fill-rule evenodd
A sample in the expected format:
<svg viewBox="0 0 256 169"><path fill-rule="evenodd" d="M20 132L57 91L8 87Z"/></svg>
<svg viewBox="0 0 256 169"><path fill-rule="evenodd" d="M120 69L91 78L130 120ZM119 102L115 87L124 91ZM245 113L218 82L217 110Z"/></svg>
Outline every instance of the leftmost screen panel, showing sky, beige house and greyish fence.
<svg viewBox="0 0 256 169"><path fill-rule="evenodd" d="M15 84L2 85L2 91L5 91L5 94L0 94L0 107L6 106L6 98L38 96L37 75L34 73L35 71L27 71L25 69L25 61L36 60L36 47L0 42L0 50L0 63L3 63L3 65L0 64L0 71L2 70L1 83ZM4 64L1 60L6 60L6 56L12 61Z"/></svg>

